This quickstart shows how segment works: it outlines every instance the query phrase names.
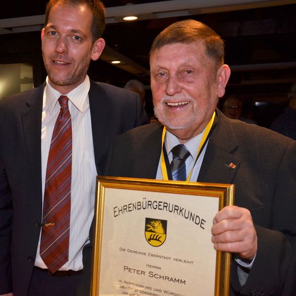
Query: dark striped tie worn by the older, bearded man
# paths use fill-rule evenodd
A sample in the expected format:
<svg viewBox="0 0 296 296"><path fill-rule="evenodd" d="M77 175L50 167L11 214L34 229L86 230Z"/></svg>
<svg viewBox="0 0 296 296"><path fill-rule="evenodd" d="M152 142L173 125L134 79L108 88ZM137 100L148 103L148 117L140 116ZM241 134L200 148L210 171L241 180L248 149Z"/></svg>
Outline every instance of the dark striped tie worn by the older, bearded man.
<svg viewBox="0 0 296 296"><path fill-rule="evenodd" d="M173 180L186 180L186 165L185 160L190 155L190 152L183 144L179 144L172 149L173 160L171 162L171 172Z"/></svg>

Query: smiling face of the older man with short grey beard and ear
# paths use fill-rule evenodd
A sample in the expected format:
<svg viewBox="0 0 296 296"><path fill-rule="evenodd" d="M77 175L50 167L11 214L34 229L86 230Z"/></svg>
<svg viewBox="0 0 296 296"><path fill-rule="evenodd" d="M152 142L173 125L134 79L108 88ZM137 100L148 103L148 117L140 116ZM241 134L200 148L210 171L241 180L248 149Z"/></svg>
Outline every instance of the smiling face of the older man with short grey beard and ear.
<svg viewBox="0 0 296 296"><path fill-rule="evenodd" d="M219 96L224 94L220 79L223 66L215 67L200 41L167 44L151 54L154 112L178 138L196 136L209 122Z"/></svg>

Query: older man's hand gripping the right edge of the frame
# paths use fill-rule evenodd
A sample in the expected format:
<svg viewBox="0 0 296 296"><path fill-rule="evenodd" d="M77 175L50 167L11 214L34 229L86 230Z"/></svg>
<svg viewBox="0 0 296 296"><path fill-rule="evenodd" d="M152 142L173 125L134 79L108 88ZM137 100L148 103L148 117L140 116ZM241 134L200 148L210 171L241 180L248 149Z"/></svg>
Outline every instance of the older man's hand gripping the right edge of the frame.
<svg viewBox="0 0 296 296"><path fill-rule="evenodd" d="M214 218L212 234L216 250L237 253L242 259L254 259L257 234L249 210L237 206L224 207Z"/></svg>

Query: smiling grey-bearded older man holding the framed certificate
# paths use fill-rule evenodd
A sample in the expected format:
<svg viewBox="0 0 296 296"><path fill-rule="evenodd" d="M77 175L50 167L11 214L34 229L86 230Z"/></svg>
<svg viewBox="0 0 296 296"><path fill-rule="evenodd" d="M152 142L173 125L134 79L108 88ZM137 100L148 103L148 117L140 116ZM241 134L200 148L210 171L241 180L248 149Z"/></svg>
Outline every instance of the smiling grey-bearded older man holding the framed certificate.
<svg viewBox="0 0 296 296"><path fill-rule="evenodd" d="M106 175L235 184L235 206L212 226L214 248L233 253L231 295L280 295L296 235L296 142L216 109L230 75L223 56L222 39L194 20L155 38L151 89L161 124L119 136ZM170 163L184 149L186 174L161 165L162 154Z"/></svg>

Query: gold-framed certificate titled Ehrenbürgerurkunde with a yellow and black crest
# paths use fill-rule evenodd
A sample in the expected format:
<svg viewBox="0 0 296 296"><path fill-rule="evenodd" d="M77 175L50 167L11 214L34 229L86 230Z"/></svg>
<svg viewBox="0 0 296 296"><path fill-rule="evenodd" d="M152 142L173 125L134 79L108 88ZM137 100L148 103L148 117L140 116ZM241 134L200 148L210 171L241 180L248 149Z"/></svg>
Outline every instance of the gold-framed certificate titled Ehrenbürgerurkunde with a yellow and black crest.
<svg viewBox="0 0 296 296"><path fill-rule="evenodd" d="M211 227L233 202L230 184L98 177L91 296L228 296Z"/></svg>

